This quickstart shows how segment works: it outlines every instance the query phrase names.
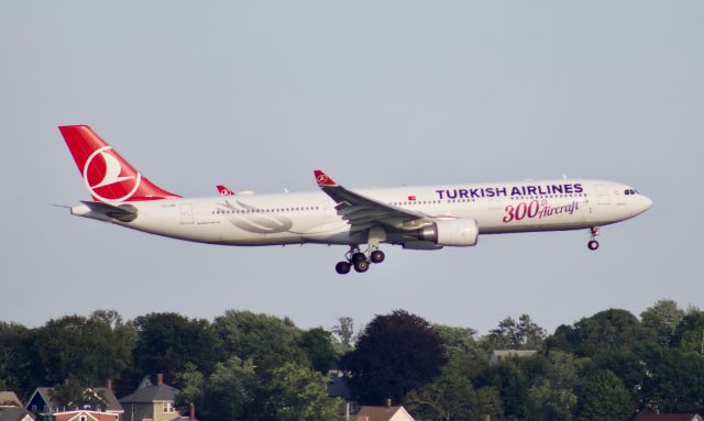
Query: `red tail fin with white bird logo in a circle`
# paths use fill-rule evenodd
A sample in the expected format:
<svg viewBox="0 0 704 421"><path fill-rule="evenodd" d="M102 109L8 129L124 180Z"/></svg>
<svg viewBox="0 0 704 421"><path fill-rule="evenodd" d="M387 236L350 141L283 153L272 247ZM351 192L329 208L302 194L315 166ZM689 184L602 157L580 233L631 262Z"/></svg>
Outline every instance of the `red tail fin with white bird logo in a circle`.
<svg viewBox="0 0 704 421"><path fill-rule="evenodd" d="M180 197L143 177L89 126L63 125L58 130L94 200L111 202Z"/></svg>

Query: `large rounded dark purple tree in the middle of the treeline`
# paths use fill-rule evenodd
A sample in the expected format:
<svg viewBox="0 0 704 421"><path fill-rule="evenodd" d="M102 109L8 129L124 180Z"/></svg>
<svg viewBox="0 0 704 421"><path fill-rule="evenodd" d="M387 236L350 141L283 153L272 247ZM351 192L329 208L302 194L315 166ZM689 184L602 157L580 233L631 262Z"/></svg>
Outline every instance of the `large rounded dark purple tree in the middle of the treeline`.
<svg viewBox="0 0 704 421"><path fill-rule="evenodd" d="M353 396L364 405L399 401L431 380L447 362L442 340L430 323L404 310L377 315L343 356Z"/></svg>

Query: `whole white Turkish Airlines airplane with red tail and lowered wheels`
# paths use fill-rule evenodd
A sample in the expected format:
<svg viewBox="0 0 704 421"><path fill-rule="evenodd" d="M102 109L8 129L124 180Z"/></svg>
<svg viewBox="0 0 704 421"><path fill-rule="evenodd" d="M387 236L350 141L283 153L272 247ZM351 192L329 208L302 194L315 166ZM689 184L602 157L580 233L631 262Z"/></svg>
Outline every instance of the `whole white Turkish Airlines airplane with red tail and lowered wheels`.
<svg viewBox="0 0 704 421"><path fill-rule="evenodd" d="M382 263L382 244L465 247L484 234L588 230L595 251L600 226L652 204L632 187L595 179L352 190L320 169L314 171L320 191L184 198L150 181L90 126L58 129L92 197L72 214L199 243L345 245L339 274Z"/></svg>

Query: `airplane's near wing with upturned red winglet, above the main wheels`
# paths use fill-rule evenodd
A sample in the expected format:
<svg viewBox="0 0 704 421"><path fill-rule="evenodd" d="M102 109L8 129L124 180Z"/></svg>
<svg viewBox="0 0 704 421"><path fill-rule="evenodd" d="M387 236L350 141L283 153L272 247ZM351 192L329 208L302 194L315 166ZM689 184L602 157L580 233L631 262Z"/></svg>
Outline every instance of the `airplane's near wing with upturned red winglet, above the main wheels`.
<svg viewBox="0 0 704 421"><path fill-rule="evenodd" d="M348 190L320 169L316 169L314 174L318 187L338 203L334 207L338 214L350 222L352 231L361 231L378 224L413 230L430 222L426 213L398 208Z"/></svg>

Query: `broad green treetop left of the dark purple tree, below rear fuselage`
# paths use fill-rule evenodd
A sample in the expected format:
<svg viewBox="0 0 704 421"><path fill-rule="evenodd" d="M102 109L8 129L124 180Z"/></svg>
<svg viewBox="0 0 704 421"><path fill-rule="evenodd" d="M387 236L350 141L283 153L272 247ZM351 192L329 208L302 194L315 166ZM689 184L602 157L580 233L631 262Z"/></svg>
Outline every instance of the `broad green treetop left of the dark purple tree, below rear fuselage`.
<svg viewBox="0 0 704 421"><path fill-rule="evenodd" d="M237 355L253 359L257 370L271 370L287 362L307 364L298 346L301 332L290 319L251 311L228 310L212 323L221 358Z"/></svg>

